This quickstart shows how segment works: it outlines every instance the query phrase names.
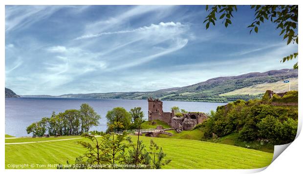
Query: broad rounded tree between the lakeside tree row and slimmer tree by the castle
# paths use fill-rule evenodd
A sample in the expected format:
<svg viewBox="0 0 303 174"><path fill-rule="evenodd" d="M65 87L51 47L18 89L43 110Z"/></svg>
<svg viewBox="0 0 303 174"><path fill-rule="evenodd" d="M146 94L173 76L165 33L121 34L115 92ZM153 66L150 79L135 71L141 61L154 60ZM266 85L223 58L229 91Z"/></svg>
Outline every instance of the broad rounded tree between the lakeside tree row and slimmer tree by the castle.
<svg viewBox="0 0 303 174"><path fill-rule="evenodd" d="M122 131L128 129L130 125L130 113L122 107L116 107L108 111L106 118L108 119L108 131ZM110 127L110 125L122 124L122 126Z"/></svg>

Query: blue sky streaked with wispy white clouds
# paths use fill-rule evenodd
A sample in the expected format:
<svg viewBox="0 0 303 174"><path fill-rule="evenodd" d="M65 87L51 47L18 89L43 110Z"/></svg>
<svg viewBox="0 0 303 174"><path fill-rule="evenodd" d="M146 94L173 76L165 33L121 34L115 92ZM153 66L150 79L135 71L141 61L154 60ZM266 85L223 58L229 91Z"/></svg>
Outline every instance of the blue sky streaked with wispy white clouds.
<svg viewBox="0 0 303 174"><path fill-rule="evenodd" d="M292 68L298 51L249 6L205 29L204 5L5 6L5 87L18 95L155 91ZM218 18L218 17L217 17Z"/></svg>

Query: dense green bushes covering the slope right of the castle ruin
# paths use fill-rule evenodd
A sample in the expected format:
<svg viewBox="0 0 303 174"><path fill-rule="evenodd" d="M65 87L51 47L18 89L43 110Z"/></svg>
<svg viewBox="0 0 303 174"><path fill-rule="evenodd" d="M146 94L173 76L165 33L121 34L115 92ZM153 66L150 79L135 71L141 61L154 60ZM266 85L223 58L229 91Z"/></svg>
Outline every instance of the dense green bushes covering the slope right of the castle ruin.
<svg viewBox="0 0 303 174"><path fill-rule="evenodd" d="M287 92L284 100L297 94L297 91ZM285 144L296 136L297 119L298 106L275 106L264 104L262 100L237 100L217 107L216 112L194 129L202 130L205 138L212 138L213 133L219 137L236 133L238 139L243 141L266 139L271 145Z"/></svg>

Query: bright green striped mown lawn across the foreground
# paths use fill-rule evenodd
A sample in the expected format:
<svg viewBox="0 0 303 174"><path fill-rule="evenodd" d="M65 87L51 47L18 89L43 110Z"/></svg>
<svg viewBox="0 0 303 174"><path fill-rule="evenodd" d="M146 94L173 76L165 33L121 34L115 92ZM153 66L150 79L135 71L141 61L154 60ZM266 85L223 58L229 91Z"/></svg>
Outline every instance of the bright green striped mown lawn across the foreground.
<svg viewBox="0 0 303 174"><path fill-rule="evenodd" d="M140 139L147 149L153 139L167 154L166 159L172 159L164 169L253 169L269 165L273 157L271 153L219 143L145 136ZM75 157L85 153L85 148L76 144L78 140L5 145L5 168L8 164L35 164L35 168L39 168L36 164L43 164L46 166L42 168L52 168L47 165L66 164L66 160L73 163Z"/></svg>

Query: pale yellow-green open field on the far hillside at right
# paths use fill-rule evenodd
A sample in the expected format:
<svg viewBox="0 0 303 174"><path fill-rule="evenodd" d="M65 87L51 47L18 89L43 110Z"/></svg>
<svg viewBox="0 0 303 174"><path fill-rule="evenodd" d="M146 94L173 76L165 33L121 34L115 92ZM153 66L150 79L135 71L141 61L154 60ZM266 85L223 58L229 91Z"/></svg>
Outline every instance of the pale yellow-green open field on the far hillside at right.
<svg viewBox="0 0 303 174"><path fill-rule="evenodd" d="M298 78L289 78L291 90L298 90ZM219 96L231 96L231 95L258 95L264 94L266 90L272 90L275 93L282 93L289 90L289 84L283 83L283 81L277 81L274 83L262 83L258 85L248 86L245 88L237 89L228 93L220 94Z"/></svg>

